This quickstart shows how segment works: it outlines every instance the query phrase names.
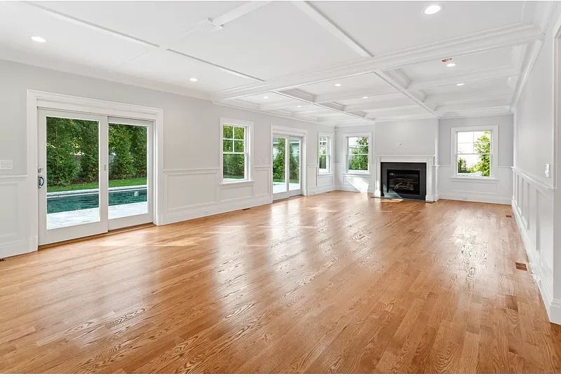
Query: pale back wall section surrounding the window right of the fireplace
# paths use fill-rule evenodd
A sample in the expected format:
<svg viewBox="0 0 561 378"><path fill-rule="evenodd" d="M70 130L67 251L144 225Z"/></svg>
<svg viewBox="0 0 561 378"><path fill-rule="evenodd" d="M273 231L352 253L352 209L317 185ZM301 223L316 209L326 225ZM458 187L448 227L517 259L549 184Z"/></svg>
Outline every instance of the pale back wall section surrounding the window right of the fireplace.
<svg viewBox="0 0 561 378"><path fill-rule="evenodd" d="M452 127L498 126L496 172L492 181L454 178ZM438 197L450 200L510 204L513 194L513 116L442 119L438 138Z"/></svg>

